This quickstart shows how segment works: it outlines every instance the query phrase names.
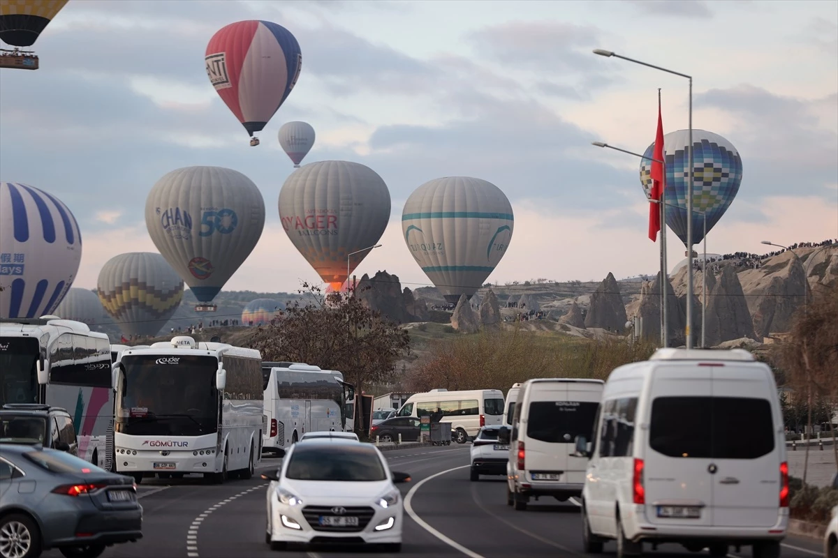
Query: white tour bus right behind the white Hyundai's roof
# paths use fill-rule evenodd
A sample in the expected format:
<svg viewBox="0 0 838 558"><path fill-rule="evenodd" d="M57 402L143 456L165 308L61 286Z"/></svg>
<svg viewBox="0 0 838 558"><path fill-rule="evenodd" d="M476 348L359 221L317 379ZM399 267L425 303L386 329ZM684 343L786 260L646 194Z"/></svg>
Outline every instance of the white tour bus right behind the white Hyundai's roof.
<svg viewBox="0 0 838 558"><path fill-rule="evenodd" d="M297 443L304 433L344 431L348 384L341 372L299 362L263 362L262 379L266 453Z"/></svg>

